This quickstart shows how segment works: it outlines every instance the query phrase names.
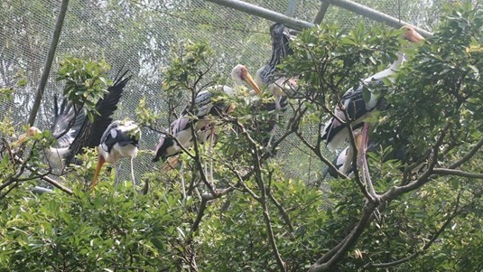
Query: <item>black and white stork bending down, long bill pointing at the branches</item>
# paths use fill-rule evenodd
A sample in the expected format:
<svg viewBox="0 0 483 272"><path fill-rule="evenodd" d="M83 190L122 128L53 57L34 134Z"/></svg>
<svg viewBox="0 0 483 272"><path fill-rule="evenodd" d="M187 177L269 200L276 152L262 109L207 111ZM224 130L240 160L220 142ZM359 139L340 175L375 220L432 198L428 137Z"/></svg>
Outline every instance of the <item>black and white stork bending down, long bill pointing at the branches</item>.
<svg viewBox="0 0 483 272"><path fill-rule="evenodd" d="M98 176L102 165L109 163L114 165L117 185L117 162L119 159L128 157L131 162L131 178L133 189L135 190L135 171L133 160L137 155L139 140L141 139L141 129L131 120L112 122L101 137L100 145L98 145L98 164L96 172L92 179L91 188L95 189L98 183Z"/></svg>

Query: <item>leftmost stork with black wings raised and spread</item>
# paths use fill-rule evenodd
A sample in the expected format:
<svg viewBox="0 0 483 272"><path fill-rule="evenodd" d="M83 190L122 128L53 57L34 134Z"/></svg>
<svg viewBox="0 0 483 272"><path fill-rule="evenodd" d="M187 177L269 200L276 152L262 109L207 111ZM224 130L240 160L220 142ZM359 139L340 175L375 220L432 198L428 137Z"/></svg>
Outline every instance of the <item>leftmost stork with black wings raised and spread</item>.
<svg viewBox="0 0 483 272"><path fill-rule="evenodd" d="M73 161L75 155L83 152L82 148L93 148L99 145L102 133L112 122L111 116L117 108L125 85L131 79L125 77L126 73L127 71L121 76L117 75L113 86L107 88L107 94L104 98L98 100L96 109L99 114L94 116L93 123L90 123L83 108L79 108L70 102L67 103L65 99L60 105L60 111L58 111L58 106L54 105L55 118L51 132L52 136L57 138L60 147L51 147L45 150L51 161L63 168ZM40 132L39 128L30 127L26 133L19 137L17 143L21 144L28 136Z"/></svg>

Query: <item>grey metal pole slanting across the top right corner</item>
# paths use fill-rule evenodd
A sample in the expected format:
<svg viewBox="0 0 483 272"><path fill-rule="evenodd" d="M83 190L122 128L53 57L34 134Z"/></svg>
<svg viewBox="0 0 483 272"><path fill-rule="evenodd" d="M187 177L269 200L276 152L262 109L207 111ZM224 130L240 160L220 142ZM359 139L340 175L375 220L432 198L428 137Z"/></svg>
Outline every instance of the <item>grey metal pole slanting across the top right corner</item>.
<svg viewBox="0 0 483 272"><path fill-rule="evenodd" d="M358 3L354 3L348 0L322 0L326 3L337 5L341 8L347 9L355 14L361 14L369 19L372 19L376 22L385 23L389 26L400 28L403 25L411 25L411 23L406 23L404 21L399 21L399 19L389 16L387 14L383 14L381 12L376 11L375 9L369 8L365 5L360 5ZM413 26L413 25L411 25ZM432 36L432 33L427 32L419 27L413 26L413 28L423 35L424 38L428 38Z"/></svg>

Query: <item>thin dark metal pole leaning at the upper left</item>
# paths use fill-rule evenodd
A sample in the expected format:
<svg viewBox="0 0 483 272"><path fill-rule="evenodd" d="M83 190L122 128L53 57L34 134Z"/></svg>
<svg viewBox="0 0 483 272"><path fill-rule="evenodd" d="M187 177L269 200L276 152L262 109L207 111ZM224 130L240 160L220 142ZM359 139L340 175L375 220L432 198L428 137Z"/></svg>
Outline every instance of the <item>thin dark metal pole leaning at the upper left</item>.
<svg viewBox="0 0 483 272"><path fill-rule="evenodd" d="M47 84L47 80L49 79L49 73L51 72L53 57L55 55L55 51L57 50L57 43L59 42L60 32L64 23L64 17L67 12L67 5L69 5L69 0L62 0L62 3L60 3L59 16L57 16L57 21L55 22L55 29L51 40L51 48L49 49L47 60L45 60L45 64L43 66L41 82L39 83L37 94L35 95L35 100L33 101L33 108L30 112L29 125L31 127L33 126L33 123L35 123L37 111L39 111L39 107L41 106L43 89L45 89L45 85Z"/></svg>

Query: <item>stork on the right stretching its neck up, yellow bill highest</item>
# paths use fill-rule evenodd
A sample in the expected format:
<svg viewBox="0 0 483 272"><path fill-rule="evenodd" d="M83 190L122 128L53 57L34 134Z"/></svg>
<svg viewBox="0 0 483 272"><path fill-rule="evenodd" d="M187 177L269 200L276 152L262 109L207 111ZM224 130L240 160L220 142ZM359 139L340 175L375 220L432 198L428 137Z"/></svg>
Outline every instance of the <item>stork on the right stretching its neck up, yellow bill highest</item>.
<svg viewBox="0 0 483 272"><path fill-rule="evenodd" d="M411 26L405 25L404 27L404 38L409 42L420 43L424 40L423 36L417 33ZM367 118L372 111L374 111L383 99L376 97L375 94L371 92L370 98L366 101L363 98L364 85L367 84L384 84L382 79L387 78L388 80L394 80L393 75L399 69L399 66L406 60L404 52L398 52L398 59L391 64L391 66L383 71L380 71L366 80L363 80L359 84L357 89L348 89L348 91L342 96L341 104L343 108L336 107L335 116L339 117L341 120L346 119L344 109L348 117L353 120L353 126L357 126L362 123L365 118ZM363 143L367 142L367 130L368 127L363 129ZM366 131L366 132L365 132ZM325 140L329 150L334 151L339 145L341 145L348 138L348 127L345 124L340 123L336 118L331 117L330 120L325 124L322 139ZM366 145L364 145L366 146Z"/></svg>

